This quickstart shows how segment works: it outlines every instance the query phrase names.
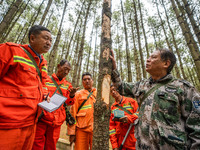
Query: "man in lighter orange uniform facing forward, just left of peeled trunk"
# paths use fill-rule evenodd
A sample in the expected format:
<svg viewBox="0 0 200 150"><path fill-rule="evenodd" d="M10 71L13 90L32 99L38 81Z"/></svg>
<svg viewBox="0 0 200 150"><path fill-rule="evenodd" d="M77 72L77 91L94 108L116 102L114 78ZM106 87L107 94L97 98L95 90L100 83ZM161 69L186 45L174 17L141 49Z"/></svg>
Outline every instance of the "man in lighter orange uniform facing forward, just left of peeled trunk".
<svg viewBox="0 0 200 150"><path fill-rule="evenodd" d="M92 75L88 72L82 74L82 84L84 89L75 94L75 103L70 112L76 119L74 125L68 125L68 135L70 144L75 142L75 150L92 149L93 136L93 112L96 102L96 89L93 88ZM85 103L83 103L85 101ZM80 107L82 105L82 107Z"/></svg>

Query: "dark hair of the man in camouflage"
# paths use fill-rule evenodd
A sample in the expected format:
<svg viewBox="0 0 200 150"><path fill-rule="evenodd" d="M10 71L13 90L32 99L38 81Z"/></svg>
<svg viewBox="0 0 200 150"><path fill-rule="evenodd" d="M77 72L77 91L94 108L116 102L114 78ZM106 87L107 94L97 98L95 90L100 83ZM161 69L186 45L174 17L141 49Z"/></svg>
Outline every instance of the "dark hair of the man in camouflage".
<svg viewBox="0 0 200 150"><path fill-rule="evenodd" d="M176 64L176 56L174 55L174 53L172 51L170 51L166 48L157 48L157 50L160 51L160 57L161 57L162 61L169 60L171 62L171 64L167 68L167 73L170 73L172 71L174 65Z"/></svg>

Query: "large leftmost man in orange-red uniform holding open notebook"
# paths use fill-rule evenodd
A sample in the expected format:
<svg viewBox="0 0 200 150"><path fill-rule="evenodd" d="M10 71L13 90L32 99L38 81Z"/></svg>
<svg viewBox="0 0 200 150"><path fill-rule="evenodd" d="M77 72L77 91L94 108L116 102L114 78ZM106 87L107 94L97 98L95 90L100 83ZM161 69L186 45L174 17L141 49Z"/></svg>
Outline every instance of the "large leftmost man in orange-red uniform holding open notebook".
<svg viewBox="0 0 200 150"><path fill-rule="evenodd" d="M32 148L41 113L37 104L46 98L47 61L42 54L51 47L51 32L35 25L28 38L29 45L0 44L0 149Z"/></svg>

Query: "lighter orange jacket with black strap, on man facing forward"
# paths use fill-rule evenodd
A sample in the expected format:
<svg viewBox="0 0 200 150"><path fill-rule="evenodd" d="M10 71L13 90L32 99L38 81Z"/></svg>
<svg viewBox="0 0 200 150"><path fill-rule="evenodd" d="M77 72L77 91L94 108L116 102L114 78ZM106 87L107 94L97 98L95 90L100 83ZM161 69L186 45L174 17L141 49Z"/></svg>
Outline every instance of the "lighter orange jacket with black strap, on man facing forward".
<svg viewBox="0 0 200 150"><path fill-rule="evenodd" d="M78 112L78 108L84 100L87 99L89 91L82 89L76 92L75 103L71 106L70 112L72 116L76 119L74 125L68 125L67 131L68 135L75 135L76 128L81 128L85 132L93 132L93 113L94 113L94 103L96 102L97 91L95 88L92 89L92 95L86 101L86 103L81 107ZM78 113L77 113L78 112Z"/></svg>

